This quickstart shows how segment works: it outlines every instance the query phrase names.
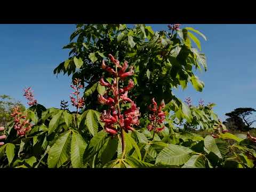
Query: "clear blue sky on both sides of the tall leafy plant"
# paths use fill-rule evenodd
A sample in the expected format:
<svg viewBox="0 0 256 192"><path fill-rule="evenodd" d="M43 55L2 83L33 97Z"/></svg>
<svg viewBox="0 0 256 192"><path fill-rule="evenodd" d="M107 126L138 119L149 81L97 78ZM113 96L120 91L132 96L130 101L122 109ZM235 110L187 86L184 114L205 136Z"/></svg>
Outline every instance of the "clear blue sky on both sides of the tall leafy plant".
<svg viewBox="0 0 256 192"><path fill-rule="evenodd" d="M152 24L154 30L166 25ZM182 25L201 31L200 38L209 70L196 73L205 83L203 92L175 90L182 100L191 97L196 105L200 98L217 104L214 111L222 120L237 107L255 106L256 25ZM0 25L0 94L7 94L26 104L23 89L31 86L39 103L58 107L69 100L71 77L53 75L53 69L68 58L69 43L75 25ZM26 105L27 106L27 105Z"/></svg>

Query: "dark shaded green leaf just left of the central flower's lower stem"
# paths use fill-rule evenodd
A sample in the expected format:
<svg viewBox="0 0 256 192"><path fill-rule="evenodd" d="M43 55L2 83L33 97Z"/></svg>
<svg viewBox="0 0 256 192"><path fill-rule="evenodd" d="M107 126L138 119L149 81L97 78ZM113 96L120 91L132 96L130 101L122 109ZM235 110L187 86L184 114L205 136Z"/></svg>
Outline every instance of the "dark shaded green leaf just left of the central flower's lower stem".
<svg viewBox="0 0 256 192"><path fill-rule="evenodd" d="M118 138L108 138L107 142L105 143L106 147L104 148L102 154L101 154L101 161L102 164L105 165L107 162L111 161L111 159L114 157L117 146L118 146Z"/></svg>

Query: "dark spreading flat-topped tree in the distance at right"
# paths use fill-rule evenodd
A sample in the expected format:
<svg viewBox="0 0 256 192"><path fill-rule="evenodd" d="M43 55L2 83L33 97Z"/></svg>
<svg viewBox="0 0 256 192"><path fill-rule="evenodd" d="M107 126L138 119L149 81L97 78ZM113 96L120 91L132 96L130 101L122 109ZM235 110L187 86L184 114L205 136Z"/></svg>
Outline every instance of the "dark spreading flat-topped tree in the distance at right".
<svg viewBox="0 0 256 192"><path fill-rule="evenodd" d="M251 119L250 115L256 110L253 108L236 108L230 113L225 114L229 118L226 119L224 124L229 129L237 129L241 131L246 131L252 129L252 124L256 122L255 119Z"/></svg>

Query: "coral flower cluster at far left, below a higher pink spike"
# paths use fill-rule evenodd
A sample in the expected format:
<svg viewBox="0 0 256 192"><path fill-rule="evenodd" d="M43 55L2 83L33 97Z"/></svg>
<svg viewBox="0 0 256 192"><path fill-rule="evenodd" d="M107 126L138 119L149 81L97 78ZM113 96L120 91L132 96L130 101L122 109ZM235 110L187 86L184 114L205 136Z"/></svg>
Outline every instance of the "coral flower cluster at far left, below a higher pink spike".
<svg viewBox="0 0 256 192"><path fill-rule="evenodd" d="M11 117L14 117L14 130L17 130L19 136L24 136L31 129L32 124L25 120L26 116L22 115L19 106L12 109Z"/></svg>

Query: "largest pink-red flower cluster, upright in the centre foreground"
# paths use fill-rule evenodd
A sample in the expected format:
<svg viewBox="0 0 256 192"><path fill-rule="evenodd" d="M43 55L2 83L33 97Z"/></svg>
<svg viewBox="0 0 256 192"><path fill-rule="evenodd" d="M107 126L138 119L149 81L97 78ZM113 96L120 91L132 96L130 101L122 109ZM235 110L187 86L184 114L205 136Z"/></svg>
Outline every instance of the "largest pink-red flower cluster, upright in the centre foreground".
<svg viewBox="0 0 256 192"><path fill-rule="evenodd" d="M103 77L100 79L100 85L105 86L106 93L104 95L98 95L98 101L102 105L108 105L110 109L104 111L101 115L101 121L105 123L105 131L111 135L118 133L117 127L124 129L126 133L128 131L134 131L133 125L139 125L139 107L128 97L128 91L131 90L134 86L132 79L129 80L127 86L119 89L118 82L119 79L124 81L128 76L133 75L133 67L130 67L129 71L126 72L128 66L127 61L124 61L123 66L120 65L120 62L116 60L113 55L109 54L109 59L114 63L116 69L106 66L105 61L102 61L102 69L108 71L111 75L114 75L113 84L105 82ZM111 95L111 96L109 96ZM131 103L131 108L124 111L124 114L121 114L119 103Z"/></svg>

